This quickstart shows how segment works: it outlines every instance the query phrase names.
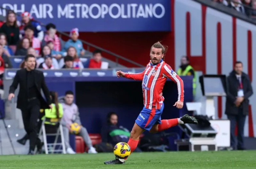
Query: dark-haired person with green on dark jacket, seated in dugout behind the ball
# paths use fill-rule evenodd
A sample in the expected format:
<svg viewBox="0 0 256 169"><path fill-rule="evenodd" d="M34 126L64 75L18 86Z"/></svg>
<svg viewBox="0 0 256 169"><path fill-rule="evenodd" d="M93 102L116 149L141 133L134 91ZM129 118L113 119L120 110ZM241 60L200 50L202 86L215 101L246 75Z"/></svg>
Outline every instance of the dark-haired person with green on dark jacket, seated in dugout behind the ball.
<svg viewBox="0 0 256 169"><path fill-rule="evenodd" d="M115 112L109 112L107 115L107 126L101 129L102 142L110 143L113 146L119 142L127 143L130 137L130 131L123 126L118 125L118 116ZM137 147L135 151L141 150Z"/></svg>

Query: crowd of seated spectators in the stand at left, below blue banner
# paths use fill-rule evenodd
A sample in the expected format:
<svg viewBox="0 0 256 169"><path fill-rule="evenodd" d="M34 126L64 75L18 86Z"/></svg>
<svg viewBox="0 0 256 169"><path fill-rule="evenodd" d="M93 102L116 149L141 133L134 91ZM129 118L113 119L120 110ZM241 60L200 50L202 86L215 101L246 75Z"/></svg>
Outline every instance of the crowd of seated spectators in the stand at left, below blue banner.
<svg viewBox="0 0 256 169"><path fill-rule="evenodd" d="M49 23L43 31L39 22L29 12L21 14L18 21L13 11L8 11L5 21L0 25L0 61L4 68L12 67L10 57L32 54L36 57L36 68L41 69L107 69L108 62L101 61L101 51L95 50L91 57L85 57L86 50L79 40L78 28L70 31L70 39L65 42L58 37L56 25ZM89 52L90 53L90 52ZM24 68L21 62L20 68Z"/></svg>

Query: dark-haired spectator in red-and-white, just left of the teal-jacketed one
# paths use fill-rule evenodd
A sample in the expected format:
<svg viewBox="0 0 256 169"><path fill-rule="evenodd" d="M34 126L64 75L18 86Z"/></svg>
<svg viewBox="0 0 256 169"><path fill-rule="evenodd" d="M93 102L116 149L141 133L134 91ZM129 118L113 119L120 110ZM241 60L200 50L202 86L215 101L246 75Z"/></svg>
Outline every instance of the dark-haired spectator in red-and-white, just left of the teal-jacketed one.
<svg viewBox="0 0 256 169"><path fill-rule="evenodd" d="M60 52L63 46L61 46L60 38L56 35L56 32L57 32L56 26L50 23L50 24L47 24L45 28L46 28L46 35L42 40L42 46L46 45L48 41L52 41L53 43L52 50Z"/></svg>

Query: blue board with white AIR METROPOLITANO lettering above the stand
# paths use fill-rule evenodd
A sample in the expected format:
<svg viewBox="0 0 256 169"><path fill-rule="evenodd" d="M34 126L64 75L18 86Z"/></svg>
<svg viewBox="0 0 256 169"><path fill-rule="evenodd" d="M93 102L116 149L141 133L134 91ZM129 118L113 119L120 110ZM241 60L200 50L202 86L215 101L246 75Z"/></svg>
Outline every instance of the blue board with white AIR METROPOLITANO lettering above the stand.
<svg viewBox="0 0 256 169"><path fill-rule="evenodd" d="M54 23L60 31L77 27L83 32L170 31L170 1L166 0L12 0L3 8L18 14L28 11L43 24ZM6 11L0 9L0 15Z"/></svg>

